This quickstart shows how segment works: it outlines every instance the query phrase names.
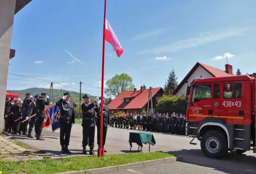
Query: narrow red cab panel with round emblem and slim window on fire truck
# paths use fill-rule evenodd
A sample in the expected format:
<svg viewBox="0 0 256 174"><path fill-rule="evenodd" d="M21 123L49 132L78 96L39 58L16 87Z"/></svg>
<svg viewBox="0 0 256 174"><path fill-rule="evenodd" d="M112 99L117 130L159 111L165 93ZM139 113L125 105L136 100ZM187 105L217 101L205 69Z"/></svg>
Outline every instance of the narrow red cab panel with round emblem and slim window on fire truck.
<svg viewBox="0 0 256 174"><path fill-rule="evenodd" d="M212 99L212 117L220 117L221 99L220 99L220 85L214 84Z"/></svg>

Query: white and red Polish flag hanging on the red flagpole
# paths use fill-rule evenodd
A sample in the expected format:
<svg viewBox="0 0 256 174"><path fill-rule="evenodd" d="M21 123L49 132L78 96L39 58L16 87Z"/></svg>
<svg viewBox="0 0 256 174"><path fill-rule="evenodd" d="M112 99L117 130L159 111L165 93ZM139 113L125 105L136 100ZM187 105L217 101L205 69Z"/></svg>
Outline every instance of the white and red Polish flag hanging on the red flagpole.
<svg viewBox="0 0 256 174"><path fill-rule="evenodd" d="M112 30L107 20L105 27L105 40L112 45L113 49L116 51L116 55L120 57L123 53L123 49L118 41L118 38L116 38L115 32Z"/></svg>

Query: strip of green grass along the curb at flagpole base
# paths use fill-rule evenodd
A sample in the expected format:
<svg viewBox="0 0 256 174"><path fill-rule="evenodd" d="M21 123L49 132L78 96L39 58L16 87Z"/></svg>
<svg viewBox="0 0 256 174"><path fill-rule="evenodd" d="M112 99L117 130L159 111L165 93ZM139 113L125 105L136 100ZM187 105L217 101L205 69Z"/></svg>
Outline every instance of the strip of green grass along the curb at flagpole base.
<svg viewBox="0 0 256 174"><path fill-rule="evenodd" d="M0 173L56 173L68 171L81 171L84 169L101 168L105 166L129 164L132 162L156 160L173 157L163 152L109 154L105 158L97 156L70 157L61 159L48 159L42 161L1 161Z"/></svg>

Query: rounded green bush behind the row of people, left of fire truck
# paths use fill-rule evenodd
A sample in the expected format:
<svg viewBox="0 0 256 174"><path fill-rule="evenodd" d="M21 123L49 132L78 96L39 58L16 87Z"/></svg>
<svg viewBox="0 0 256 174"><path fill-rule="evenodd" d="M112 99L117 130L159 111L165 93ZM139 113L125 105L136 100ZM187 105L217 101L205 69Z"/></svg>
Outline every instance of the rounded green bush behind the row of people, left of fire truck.
<svg viewBox="0 0 256 174"><path fill-rule="evenodd" d="M186 114L187 110L187 102L186 97L181 96L162 96L157 104L157 107L155 108L156 113L182 113Z"/></svg>

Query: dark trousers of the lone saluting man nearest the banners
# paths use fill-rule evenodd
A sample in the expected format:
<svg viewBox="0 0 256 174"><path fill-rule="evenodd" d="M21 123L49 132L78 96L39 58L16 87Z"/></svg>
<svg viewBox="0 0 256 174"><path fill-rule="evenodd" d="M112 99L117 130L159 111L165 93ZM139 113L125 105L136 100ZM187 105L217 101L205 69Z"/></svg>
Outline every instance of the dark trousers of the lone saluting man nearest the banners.
<svg viewBox="0 0 256 174"><path fill-rule="evenodd" d="M72 124L67 124L66 121L60 122L60 131L59 131L59 140L61 143L61 146L69 146L69 140L70 140L70 133Z"/></svg>

